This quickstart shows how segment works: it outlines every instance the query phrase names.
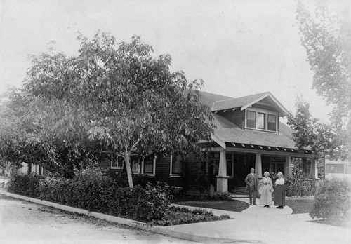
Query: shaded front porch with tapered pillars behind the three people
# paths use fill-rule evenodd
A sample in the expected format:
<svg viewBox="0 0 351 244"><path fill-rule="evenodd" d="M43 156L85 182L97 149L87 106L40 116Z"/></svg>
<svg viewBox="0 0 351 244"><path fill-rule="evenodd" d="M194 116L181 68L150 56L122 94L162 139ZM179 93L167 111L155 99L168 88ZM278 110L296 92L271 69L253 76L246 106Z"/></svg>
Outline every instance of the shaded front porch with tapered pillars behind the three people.
<svg viewBox="0 0 351 244"><path fill-rule="evenodd" d="M227 192L243 190L250 168L259 178L264 172L282 172L291 176L293 158L311 158L310 151L300 154L296 149L230 144L223 147L203 147L206 151L206 175L212 176L209 191ZM317 178L317 161L312 161L311 178Z"/></svg>

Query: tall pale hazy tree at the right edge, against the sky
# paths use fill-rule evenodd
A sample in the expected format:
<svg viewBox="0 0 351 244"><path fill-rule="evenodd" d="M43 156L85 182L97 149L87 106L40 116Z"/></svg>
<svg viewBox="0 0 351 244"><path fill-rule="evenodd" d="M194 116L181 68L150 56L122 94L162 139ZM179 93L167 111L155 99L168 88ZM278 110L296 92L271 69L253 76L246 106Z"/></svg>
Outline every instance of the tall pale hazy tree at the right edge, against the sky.
<svg viewBox="0 0 351 244"><path fill-rule="evenodd" d="M346 6L345 6L346 7ZM350 10L317 1L314 12L298 4L300 36L314 72L312 88L333 105L330 127L340 143L335 158L351 159L351 21Z"/></svg>

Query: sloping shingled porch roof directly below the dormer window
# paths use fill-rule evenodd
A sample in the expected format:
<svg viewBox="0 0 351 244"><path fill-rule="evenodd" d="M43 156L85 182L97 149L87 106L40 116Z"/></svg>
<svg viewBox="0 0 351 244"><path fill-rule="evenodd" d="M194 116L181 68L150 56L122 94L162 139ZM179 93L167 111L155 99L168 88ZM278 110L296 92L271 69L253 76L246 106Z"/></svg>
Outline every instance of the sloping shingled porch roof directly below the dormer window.
<svg viewBox="0 0 351 244"><path fill-rule="evenodd" d="M243 130L227 118L217 114L213 114L213 118L213 124L216 125L214 135L220 142L296 149L295 143L291 140L291 131L289 131L291 129L284 123L279 123L281 133L269 133L259 130Z"/></svg>

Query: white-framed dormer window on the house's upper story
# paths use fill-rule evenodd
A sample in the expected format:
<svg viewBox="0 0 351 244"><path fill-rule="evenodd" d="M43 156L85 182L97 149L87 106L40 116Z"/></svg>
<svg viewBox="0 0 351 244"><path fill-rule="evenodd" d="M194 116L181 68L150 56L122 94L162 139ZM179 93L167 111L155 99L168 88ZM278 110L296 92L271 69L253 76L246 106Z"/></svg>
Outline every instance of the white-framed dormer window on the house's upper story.
<svg viewBox="0 0 351 244"><path fill-rule="evenodd" d="M277 131L277 114L260 109L246 110L246 128Z"/></svg>

